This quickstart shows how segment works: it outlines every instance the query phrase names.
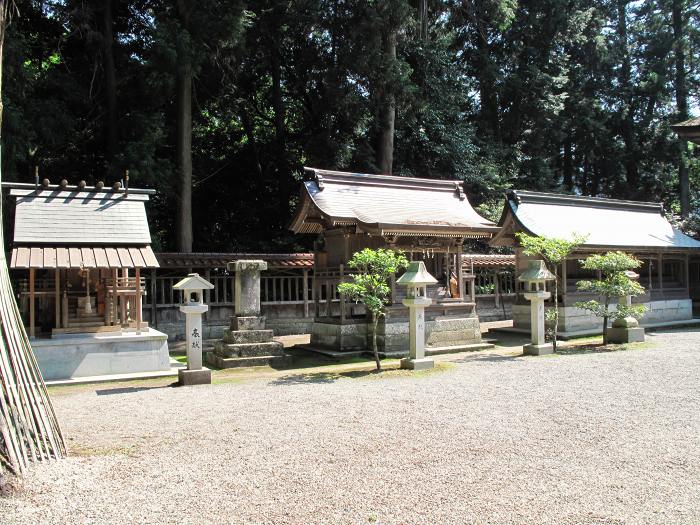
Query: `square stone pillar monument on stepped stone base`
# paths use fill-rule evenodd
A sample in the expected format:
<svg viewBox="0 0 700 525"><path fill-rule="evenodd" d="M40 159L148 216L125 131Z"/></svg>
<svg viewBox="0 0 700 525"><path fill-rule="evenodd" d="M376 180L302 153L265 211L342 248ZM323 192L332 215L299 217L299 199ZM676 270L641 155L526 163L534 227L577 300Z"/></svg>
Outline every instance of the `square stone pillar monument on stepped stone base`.
<svg viewBox="0 0 700 525"><path fill-rule="evenodd" d="M282 343L273 340L273 331L265 329L260 314L260 272L267 270L261 260L238 260L228 264L235 272L235 315L224 338L214 345L210 363L219 368L283 365L291 356L284 353Z"/></svg>

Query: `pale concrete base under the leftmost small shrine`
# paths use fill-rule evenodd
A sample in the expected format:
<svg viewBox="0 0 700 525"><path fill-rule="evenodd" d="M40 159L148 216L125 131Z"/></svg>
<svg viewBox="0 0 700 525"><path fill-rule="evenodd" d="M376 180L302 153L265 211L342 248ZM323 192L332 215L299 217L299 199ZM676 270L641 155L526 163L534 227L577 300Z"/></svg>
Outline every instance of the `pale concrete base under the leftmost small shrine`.
<svg viewBox="0 0 700 525"><path fill-rule="evenodd" d="M168 336L153 328L30 342L46 381L170 370Z"/></svg>

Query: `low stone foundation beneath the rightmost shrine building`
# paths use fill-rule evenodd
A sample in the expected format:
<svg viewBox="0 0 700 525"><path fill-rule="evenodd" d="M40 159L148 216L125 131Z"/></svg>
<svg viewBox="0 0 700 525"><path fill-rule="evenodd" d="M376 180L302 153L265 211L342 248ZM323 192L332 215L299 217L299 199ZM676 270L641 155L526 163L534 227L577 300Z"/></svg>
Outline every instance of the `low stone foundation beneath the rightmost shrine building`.
<svg viewBox="0 0 700 525"><path fill-rule="evenodd" d="M693 303L690 299L668 299L643 304L648 310L640 320L641 325L693 318ZM602 322L602 319L575 306L559 307L560 333L601 329ZM530 305L513 305L513 327L530 329Z"/></svg>

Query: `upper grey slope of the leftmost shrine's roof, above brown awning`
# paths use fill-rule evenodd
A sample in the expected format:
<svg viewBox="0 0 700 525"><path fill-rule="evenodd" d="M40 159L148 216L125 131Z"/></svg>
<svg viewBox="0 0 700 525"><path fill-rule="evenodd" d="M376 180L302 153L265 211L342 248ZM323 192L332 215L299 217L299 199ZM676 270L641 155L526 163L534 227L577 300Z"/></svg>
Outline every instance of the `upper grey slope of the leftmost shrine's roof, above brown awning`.
<svg viewBox="0 0 700 525"><path fill-rule="evenodd" d="M147 195L66 190L12 190L17 197L14 244L129 245L151 243Z"/></svg>

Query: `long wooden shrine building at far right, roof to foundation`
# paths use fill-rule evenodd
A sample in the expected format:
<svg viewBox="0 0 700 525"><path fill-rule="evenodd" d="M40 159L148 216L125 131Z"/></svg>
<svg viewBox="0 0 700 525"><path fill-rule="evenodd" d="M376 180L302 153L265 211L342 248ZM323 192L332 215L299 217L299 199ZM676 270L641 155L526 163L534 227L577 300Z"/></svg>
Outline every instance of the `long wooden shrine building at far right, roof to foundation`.
<svg viewBox="0 0 700 525"><path fill-rule="evenodd" d="M574 307L577 301L594 298L579 292L576 282L596 277L581 267L583 258L615 250L642 261L637 272L647 293L633 299L648 308L642 324L692 319L693 300L700 300L700 242L674 228L659 203L510 190L499 225L501 230L490 244L514 249L516 273L533 257L522 254L515 233L560 239L571 239L574 233L587 236L559 268L563 334L600 330L599 319ZM513 326L529 330L529 312L529 302L519 297L513 306Z"/></svg>

